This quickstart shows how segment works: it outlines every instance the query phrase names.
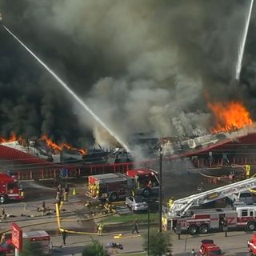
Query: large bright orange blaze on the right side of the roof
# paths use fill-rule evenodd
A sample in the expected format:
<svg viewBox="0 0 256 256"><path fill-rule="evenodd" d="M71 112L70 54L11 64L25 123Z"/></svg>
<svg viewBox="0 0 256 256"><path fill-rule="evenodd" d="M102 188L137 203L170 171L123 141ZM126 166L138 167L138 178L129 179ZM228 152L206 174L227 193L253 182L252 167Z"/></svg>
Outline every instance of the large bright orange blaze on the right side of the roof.
<svg viewBox="0 0 256 256"><path fill-rule="evenodd" d="M250 113L242 102L208 102L207 106L214 112L214 133L237 130L253 124Z"/></svg>

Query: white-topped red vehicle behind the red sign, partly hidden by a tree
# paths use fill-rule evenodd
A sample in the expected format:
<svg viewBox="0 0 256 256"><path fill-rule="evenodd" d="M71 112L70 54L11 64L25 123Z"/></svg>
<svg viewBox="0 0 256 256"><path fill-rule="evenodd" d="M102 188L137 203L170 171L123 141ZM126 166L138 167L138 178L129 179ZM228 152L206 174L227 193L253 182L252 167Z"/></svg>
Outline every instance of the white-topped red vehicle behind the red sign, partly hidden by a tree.
<svg viewBox="0 0 256 256"><path fill-rule="evenodd" d="M22 238L23 241L38 242L41 245L42 253L50 255L50 235L46 231L23 232Z"/></svg>

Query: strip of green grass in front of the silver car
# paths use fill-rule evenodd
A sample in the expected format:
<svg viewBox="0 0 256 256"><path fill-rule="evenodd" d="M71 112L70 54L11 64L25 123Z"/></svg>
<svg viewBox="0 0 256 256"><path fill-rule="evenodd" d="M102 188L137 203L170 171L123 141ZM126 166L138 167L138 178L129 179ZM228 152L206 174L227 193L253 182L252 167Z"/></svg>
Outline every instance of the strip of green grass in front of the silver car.
<svg viewBox="0 0 256 256"><path fill-rule="evenodd" d="M150 214L150 222L155 222L158 221L158 216L159 214ZM135 219L138 219L138 222L145 222L147 223L147 214L132 214L132 215L112 215L104 221L110 222L110 223L115 223L115 222L122 222L122 223L130 223L134 222Z"/></svg>

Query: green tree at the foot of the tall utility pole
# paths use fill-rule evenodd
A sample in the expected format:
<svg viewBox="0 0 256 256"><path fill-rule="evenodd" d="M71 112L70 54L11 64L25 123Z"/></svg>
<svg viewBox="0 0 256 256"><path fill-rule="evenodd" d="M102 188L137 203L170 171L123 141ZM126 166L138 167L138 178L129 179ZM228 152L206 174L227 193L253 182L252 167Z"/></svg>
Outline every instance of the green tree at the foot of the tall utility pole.
<svg viewBox="0 0 256 256"><path fill-rule="evenodd" d="M148 237L147 234L143 235L143 249L148 251ZM149 255L150 256L162 256L172 255L172 243L170 234L159 233L158 230L150 230L149 241Z"/></svg>

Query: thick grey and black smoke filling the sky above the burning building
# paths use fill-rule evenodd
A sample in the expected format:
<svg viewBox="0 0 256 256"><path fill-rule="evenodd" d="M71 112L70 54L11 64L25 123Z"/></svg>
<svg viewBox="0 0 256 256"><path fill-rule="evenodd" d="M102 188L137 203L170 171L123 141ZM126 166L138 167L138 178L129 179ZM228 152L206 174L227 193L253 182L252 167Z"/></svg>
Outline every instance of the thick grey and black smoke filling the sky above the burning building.
<svg viewBox="0 0 256 256"><path fill-rule="evenodd" d="M0 0L4 24L110 129L205 133L211 101L242 100L255 117L255 10L234 81L250 0ZM104 145L106 134L0 29L0 133Z"/></svg>

